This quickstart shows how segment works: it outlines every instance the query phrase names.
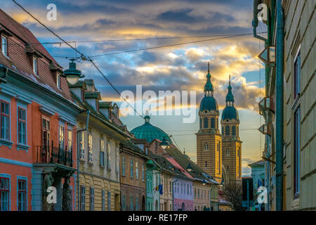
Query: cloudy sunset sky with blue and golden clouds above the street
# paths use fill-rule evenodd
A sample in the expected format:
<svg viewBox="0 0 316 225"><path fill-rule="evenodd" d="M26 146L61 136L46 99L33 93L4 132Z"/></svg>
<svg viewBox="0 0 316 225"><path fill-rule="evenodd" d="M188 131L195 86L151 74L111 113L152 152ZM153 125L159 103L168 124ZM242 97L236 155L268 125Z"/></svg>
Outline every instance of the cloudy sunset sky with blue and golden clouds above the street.
<svg viewBox="0 0 316 225"><path fill-rule="evenodd" d="M135 92L136 85L140 84L143 85L143 91L152 90L157 94L158 91L164 90L197 91L195 108L199 107L199 101L204 96L203 88L209 62L214 96L218 101L220 113L225 106L228 76L231 75L235 106L239 110L239 134L243 141L243 174L250 173L247 167L249 163L260 159L264 138L257 129L263 120L258 115L257 105L260 96L263 96L265 84L263 65L256 56L263 50L263 43L259 44L258 39L251 35L226 39L217 37L252 32L252 0L17 1L62 38L78 41L72 45L86 56L215 39L101 56L93 60L119 91ZM46 19L46 6L51 3L57 6L56 21ZM40 41L59 41L12 1L2 0L1 8L28 27ZM259 31L264 30L262 28ZM216 37L205 37L212 35ZM177 38L153 39L162 37ZM118 39L120 41L113 41ZM100 42L79 42L89 40ZM44 46L52 56L76 56L65 44ZM62 67L68 67L67 59L56 60ZM95 79L103 100L121 104L122 100L91 63L78 63L78 67L86 78ZM195 114L197 115L197 111ZM143 124L143 119L136 115L122 117L121 120L130 130ZM181 115L152 115L151 118L152 124L173 135L181 150L185 148L185 152L193 160L196 158L195 132L199 128L198 121L197 117L194 123L185 124Z"/></svg>

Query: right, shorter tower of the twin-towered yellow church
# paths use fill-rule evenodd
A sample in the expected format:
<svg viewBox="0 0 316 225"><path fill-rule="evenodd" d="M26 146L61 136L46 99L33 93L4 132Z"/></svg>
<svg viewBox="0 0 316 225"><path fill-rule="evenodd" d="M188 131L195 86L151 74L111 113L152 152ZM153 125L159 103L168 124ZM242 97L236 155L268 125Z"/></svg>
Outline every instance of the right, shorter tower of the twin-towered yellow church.
<svg viewBox="0 0 316 225"><path fill-rule="evenodd" d="M242 181L242 141L239 139L239 116L234 103L229 82L226 107L220 121L223 135L224 184L240 184Z"/></svg>

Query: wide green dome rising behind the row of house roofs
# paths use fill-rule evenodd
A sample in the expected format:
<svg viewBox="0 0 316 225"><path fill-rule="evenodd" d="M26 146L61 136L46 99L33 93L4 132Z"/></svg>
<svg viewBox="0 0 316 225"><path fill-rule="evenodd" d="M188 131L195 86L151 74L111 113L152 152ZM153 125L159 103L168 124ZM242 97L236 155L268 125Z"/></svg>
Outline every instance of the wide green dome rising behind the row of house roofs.
<svg viewBox="0 0 316 225"><path fill-rule="evenodd" d="M135 135L136 139L146 139L147 142L152 142L154 139L162 141L165 137L166 141L172 143L169 135L166 134L166 132L150 124L149 115L146 115L144 119L145 124L131 130L131 133Z"/></svg>

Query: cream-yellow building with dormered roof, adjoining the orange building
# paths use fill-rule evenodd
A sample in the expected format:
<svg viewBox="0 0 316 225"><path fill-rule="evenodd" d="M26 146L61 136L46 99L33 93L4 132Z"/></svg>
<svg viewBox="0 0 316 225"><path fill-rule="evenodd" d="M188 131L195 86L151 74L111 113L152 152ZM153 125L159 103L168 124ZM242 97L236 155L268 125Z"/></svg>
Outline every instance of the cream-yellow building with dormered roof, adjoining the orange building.
<svg viewBox="0 0 316 225"><path fill-rule="evenodd" d="M119 211L119 145L128 135L103 114L103 102L93 80L79 81L70 89L74 102L84 110L77 117L78 210Z"/></svg>

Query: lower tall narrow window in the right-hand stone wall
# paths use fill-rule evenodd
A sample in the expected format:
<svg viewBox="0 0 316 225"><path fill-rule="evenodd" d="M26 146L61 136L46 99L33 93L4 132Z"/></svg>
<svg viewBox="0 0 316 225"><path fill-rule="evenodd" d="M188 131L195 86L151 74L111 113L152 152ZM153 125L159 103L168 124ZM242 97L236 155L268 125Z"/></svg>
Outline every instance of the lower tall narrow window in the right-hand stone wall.
<svg viewBox="0 0 316 225"><path fill-rule="evenodd" d="M294 112L294 195L300 193L301 109Z"/></svg>

